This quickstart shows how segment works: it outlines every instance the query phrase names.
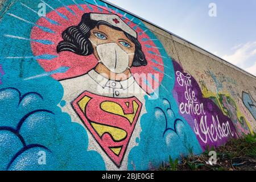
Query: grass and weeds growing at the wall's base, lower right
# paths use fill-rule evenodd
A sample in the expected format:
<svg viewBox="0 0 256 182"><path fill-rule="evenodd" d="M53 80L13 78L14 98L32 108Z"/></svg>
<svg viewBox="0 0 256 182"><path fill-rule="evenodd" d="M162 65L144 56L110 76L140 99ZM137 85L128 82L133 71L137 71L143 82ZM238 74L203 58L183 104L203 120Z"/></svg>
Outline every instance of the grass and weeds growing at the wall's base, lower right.
<svg viewBox="0 0 256 182"><path fill-rule="evenodd" d="M207 164L209 151L216 151L217 164ZM181 156L180 160L169 156L169 164L162 164L160 171L255 171L256 135L246 135L240 139L231 139L224 146L209 148L201 155Z"/></svg>

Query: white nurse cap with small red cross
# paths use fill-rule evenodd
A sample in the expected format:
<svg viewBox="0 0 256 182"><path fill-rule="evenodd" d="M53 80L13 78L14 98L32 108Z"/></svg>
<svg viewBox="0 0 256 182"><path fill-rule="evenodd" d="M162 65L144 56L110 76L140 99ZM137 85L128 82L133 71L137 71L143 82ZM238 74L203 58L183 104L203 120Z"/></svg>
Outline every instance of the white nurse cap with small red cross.
<svg viewBox="0 0 256 182"><path fill-rule="evenodd" d="M104 21L107 22L114 27L120 28L122 31L126 32L137 38L137 32L133 30L133 28L129 27L119 16L113 14L100 14L100 13L90 13L90 19L96 21Z"/></svg>

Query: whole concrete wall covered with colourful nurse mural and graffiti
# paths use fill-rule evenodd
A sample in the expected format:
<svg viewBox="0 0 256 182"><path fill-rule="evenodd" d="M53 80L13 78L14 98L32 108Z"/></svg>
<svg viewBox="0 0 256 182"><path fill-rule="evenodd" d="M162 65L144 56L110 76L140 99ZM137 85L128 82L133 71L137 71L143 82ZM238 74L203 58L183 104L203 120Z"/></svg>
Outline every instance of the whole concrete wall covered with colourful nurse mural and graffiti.
<svg viewBox="0 0 256 182"><path fill-rule="evenodd" d="M102 1L0 17L1 170L149 169L256 131L254 76Z"/></svg>

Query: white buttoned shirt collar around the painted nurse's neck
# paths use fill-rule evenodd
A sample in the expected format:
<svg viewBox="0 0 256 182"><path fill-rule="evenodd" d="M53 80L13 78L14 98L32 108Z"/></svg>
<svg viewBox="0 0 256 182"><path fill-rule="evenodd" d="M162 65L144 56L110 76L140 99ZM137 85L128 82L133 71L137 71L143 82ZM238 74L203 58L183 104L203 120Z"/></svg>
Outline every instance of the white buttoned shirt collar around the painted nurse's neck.
<svg viewBox="0 0 256 182"><path fill-rule="evenodd" d="M88 75L94 81L96 81L99 85L101 85L102 88L105 88L106 86L108 86L110 88L125 90L125 89L129 88L129 86L131 86L135 82L135 79L133 76L131 76L127 80L123 80L123 81L109 80L108 78L105 78L104 76L97 73L94 69L92 69L90 72L88 72Z"/></svg>

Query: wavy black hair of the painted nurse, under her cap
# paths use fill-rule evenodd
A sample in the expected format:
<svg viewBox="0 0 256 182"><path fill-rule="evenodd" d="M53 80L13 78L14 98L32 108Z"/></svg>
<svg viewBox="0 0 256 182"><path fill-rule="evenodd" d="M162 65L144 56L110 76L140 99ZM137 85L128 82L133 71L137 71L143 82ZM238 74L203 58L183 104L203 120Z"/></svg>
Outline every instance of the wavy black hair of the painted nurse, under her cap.
<svg viewBox="0 0 256 182"><path fill-rule="evenodd" d="M61 41L57 45L57 52L59 53L61 51L70 51L82 56L91 55L93 53L93 46L89 40L90 30L92 30L96 26L99 27L102 24L109 26L110 28L113 28L115 30L122 31L121 28L112 26L112 24L109 24L105 21L92 20L90 19L90 14L85 13L84 15L82 15L81 22L77 26L68 27L62 33L63 41ZM139 41L134 38L134 36L127 34L127 32L125 31L123 32L126 37L135 44L135 53L132 66L146 66L147 60L144 53L142 52L141 43L139 43Z"/></svg>

